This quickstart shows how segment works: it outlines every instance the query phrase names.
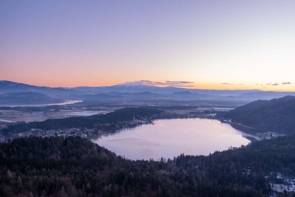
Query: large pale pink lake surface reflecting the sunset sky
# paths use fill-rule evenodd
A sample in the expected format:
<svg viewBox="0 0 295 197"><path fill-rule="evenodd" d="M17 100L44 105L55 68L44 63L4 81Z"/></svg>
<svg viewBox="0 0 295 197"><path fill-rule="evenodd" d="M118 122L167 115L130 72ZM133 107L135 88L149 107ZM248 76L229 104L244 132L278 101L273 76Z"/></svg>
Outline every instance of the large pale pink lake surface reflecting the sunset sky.
<svg viewBox="0 0 295 197"><path fill-rule="evenodd" d="M229 124L209 119L165 119L155 124L122 129L95 142L128 159L158 160L181 153L208 155L250 142Z"/></svg>

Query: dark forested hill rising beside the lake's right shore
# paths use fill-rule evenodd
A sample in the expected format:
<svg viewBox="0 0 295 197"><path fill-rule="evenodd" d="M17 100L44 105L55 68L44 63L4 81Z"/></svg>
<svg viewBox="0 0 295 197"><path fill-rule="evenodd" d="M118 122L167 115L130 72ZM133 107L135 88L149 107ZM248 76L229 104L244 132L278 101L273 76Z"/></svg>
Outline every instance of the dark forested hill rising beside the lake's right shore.
<svg viewBox="0 0 295 197"><path fill-rule="evenodd" d="M294 133L295 97L257 100L231 110L224 117L232 118L234 123L260 128L261 131Z"/></svg>

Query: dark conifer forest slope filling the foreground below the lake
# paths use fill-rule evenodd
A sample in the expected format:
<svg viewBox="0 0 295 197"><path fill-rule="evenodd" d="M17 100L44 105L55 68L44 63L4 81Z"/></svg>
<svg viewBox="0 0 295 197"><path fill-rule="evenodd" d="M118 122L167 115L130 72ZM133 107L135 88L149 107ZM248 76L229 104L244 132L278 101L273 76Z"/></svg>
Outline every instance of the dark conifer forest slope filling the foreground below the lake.
<svg viewBox="0 0 295 197"><path fill-rule="evenodd" d="M272 188L289 185L276 173L295 175L294 141L157 162L117 157L80 137L17 138L0 144L0 196L287 196Z"/></svg>

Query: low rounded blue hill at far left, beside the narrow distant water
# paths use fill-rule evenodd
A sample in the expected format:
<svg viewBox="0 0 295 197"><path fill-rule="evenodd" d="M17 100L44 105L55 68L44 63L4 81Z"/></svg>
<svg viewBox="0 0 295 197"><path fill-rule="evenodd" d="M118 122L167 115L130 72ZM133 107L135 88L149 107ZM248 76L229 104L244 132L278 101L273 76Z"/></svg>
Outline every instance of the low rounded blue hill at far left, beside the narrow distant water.
<svg viewBox="0 0 295 197"><path fill-rule="evenodd" d="M17 92L0 95L0 105L49 104L59 102L63 102L63 100L51 98L37 92Z"/></svg>

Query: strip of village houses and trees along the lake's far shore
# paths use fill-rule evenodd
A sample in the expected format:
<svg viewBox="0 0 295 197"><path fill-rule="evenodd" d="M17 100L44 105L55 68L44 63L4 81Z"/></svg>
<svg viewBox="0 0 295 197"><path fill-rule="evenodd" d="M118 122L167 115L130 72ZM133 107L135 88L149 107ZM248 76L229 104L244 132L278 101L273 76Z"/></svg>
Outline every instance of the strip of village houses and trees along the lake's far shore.
<svg viewBox="0 0 295 197"><path fill-rule="evenodd" d="M137 115L138 116L138 115ZM28 136L37 136L37 137L50 137L50 136L63 136L64 138L68 136L80 136L82 138L88 138L88 139L95 139L99 138L102 135L111 134L115 131L123 128L132 128L136 127L138 125L142 124L150 124L153 123L153 120L156 119L172 119L172 118L202 118L202 119L215 119L223 123L231 124L231 120L224 120L220 119L216 116L216 113L214 113L214 110L206 110L203 112L192 112L192 113L185 113L185 114L178 114L174 110L164 110L164 112L161 115L153 115L150 117L137 117L135 119L135 116L133 117L132 121L122 121L118 124L112 124L112 123L106 123L106 124L100 124L97 125L96 128L68 128L63 130L42 130L39 128L33 128L30 131L22 132L22 133L11 133L9 135L4 135L1 131L4 128L7 128L10 124L17 124L17 123L1 123L0 122L0 143L11 141L14 138L19 137L28 137ZM236 123L235 123L236 124ZM240 128L237 128L236 125L239 125ZM275 132L264 132L264 133L251 133L250 130L254 131L255 128L248 127L241 124L232 125L234 128L241 130L245 133L250 133L254 137L245 136L247 139L249 138L250 141L256 141L256 140L262 140L262 139L269 139L272 137L278 137L283 136L283 134L275 133ZM245 129L249 131L245 131Z"/></svg>

